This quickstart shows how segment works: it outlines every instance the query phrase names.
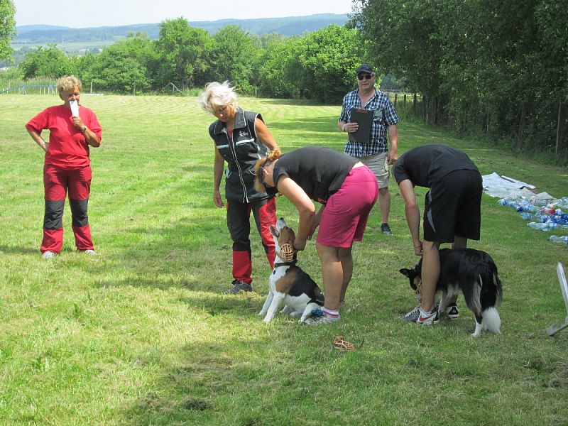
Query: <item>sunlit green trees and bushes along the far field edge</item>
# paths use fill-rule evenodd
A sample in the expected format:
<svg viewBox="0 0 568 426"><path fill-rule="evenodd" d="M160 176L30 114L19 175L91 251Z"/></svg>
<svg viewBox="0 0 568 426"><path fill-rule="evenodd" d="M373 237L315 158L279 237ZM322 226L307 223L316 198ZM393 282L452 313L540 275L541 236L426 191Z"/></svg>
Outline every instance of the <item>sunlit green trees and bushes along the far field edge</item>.
<svg viewBox="0 0 568 426"><path fill-rule="evenodd" d="M116 93L180 89L231 81L242 94L341 102L361 61L359 31L331 25L302 36L259 36L227 25L214 35L185 18L160 23L160 35L133 33L98 54L38 48L18 65L24 79L76 75Z"/></svg>

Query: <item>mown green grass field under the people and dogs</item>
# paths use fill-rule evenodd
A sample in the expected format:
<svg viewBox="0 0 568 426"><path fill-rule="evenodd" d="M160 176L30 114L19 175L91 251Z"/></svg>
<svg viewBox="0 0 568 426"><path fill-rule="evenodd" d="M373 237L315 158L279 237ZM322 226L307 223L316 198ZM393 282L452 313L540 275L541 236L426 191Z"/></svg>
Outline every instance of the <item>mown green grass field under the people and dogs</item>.
<svg viewBox="0 0 568 426"><path fill-rule="evenodd" d="M252 234L256 293L222 294L231 241L212 204L212 117L188 97L83 97L104 128L92 149L89 217L99 256L65 244L40 258L43 155L23 125L55 96L0 96L1 425L561 425L568 422L568 331L555 266L568 248L484 195L481 241L503 280L502 334L470 337L474 319L402 324L415 305L398 273L417 258L391 185L393 236L373 211L354 248L342 322L302 327L257 317L268 266ZM284 151L342 150L339 106L241 99ZM420 124L399 126L399 153L425 143L464 149L496 171L568 195L566 168L515 158ZM44 135L47 138L47 135ZM423 199L425 191L419 190ZM278 199L278 214L297 214ZM300 265L318 283L314 243ZM343 336L358 346L332 349Z"/></svg>

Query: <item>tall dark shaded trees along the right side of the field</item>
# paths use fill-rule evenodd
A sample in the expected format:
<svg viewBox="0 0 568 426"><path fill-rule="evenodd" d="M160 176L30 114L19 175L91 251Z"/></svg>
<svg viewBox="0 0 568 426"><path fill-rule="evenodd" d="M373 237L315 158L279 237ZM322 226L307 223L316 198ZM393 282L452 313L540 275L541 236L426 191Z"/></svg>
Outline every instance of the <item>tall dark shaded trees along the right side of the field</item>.
<svg viewBox="0 0 568 426"><path fill-rule="evenodd" d="M521 149L555 146L568 101L567 0L354 0L354 8L369 57L424 95L431 116L523 141Z"/></svg>

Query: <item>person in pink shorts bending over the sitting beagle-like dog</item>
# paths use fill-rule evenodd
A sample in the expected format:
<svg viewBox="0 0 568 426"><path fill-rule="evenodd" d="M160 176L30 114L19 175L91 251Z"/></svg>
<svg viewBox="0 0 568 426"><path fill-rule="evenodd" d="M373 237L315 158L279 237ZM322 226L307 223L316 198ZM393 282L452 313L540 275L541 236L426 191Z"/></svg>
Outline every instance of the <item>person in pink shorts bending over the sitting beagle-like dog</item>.
<svg viewBox="0 0 568 426"><path fill-rule="evenodd" d="M271 151L256 162L256 188L275 187L297 208L296 250L305 249L317 226L316 249L322 263L325 305L307 324L339 321L353 273L351 246L361 241L378 196L373 172L356 158L318 146L286 154ZM315 200L322 204L316 212Z"/></svg>

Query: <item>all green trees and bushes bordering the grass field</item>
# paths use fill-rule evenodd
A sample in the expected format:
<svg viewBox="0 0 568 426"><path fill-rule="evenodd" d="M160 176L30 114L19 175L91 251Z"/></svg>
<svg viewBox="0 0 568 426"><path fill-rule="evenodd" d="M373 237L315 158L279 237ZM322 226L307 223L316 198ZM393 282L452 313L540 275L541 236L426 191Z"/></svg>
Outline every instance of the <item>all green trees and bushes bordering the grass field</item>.
<svg viewBox="0 0 568 426"><path fill-rule="evenodd" d="M554 151L566 124L568 0L353 0L345 26L293 37L234 25L210 35L177 18L160 23L158 39L133 33L97 55L40 48L18 72L74 74L118 93L229 80L241 94L339 103L361 62L420 94L434 124Z"/></svg>

